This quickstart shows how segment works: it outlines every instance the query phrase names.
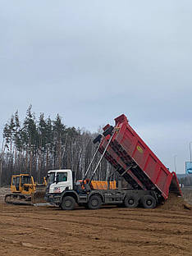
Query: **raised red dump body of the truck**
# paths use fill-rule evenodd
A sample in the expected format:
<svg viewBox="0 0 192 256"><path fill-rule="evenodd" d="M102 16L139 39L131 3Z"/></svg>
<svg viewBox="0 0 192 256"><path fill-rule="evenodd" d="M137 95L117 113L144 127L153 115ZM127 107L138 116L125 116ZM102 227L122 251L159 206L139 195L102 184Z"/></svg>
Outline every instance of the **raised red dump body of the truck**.
<svg viewBox="0 0 192 256"><path fill-rule="evenodd" d="M99 152L135 190L155 190L167 199L169 191L181 194L175 172L170 172L129 125L125 115L115 119L113 133L103 137ZM103 130L107 130L109 125Z"/></svg>

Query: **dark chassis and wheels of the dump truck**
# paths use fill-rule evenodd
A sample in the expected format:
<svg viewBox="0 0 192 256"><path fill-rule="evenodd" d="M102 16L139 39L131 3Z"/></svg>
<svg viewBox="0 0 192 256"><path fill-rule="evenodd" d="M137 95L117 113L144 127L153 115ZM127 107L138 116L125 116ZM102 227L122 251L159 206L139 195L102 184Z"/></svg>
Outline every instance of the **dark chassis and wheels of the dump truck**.
<svg viewBox="0 0 192 256"><path fill-rule="evenodd" d="M63 210L73 210L76 204L89 209L98 209L102 204L126 208L136 208L140 204L144 208L155 208L158 195L153 190L92 190L80 194L77 190L65 190L62 194L49 194L46 200Z"/></svg>

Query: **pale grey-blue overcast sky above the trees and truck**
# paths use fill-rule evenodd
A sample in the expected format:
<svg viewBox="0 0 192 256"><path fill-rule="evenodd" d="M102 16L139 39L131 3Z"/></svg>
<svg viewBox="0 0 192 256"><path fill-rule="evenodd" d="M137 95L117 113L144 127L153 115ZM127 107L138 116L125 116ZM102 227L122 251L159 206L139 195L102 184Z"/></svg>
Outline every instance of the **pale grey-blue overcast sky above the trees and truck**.
<svg viewBox="0 0 192 256"><path fill-rule="evenodd" d="M124 113L171 171L175 158L184 172L191 27L191 0L0 0L1 133L30 104L38 117L59 113L90 131Z"/></svg>

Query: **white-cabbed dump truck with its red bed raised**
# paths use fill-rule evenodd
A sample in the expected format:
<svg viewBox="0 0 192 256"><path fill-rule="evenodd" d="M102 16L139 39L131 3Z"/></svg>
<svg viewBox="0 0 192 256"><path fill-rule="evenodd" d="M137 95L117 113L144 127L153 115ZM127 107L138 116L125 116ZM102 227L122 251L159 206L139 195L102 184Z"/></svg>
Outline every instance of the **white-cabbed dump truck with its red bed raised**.
<svg viewBox="0 0 192 256"><path fill-rule="evenodd" d="M155 208L168 198L170 192L181 195L175 172L170 172L151 149L129 125L125 115L115 118L115 126L107 125L103 134L94 139L98 144L92 161L82 181L74 181L73 171L57 170L48 172L48 186L45 199L64 210L75 205L98 209L102 204L117 204L126 208ZM89 170L97 153L101 153L97 166L88 179ZM103 158L112 164L119 176L129 186L95 189L93 178Z"/></svg>

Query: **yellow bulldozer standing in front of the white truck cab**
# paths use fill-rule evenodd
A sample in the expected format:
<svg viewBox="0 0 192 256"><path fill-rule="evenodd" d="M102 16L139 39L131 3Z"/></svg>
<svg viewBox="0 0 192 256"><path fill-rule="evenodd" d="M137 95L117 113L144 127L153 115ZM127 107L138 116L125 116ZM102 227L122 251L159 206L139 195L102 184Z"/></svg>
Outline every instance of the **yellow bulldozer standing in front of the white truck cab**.
<svg viewBox="0 0 192 256"><path fill-rule="evenodd" d="M34 177L29 174L11 176L11 194L6 194L5 203L30 204L42 203L47 186L46 178L43 183L34 182Z"/></svg>

